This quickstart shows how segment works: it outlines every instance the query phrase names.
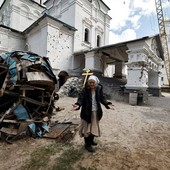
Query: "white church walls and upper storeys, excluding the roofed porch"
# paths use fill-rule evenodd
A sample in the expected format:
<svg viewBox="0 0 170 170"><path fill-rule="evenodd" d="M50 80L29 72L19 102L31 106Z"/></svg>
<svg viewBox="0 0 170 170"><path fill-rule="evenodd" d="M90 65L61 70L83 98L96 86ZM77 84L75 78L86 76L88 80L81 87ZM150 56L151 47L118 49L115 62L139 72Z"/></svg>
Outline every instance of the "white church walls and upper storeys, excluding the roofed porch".
<svg viewBox="0 0 170 170"><path fill-rule="evenodd" d="M108 44L108 11L97 0L6 0L0 9L0 50L48 56L56 72L77 68L75 52Z"/></svg>

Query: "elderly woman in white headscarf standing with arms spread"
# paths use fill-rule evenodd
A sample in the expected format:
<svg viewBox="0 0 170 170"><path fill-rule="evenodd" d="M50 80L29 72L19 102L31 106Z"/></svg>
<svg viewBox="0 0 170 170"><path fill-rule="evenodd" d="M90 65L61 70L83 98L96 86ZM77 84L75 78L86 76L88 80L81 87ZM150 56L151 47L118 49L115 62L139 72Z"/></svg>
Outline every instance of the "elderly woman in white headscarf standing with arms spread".
<svg viewBox="0 0 170 170"><path fill-rule="evenodd" d="M89 152L94 151L92 145L97 145L97 143L94 142L94 137L100 136L99 121L103 115L100 103L107 109L113 109L112 103L106 100L102 89L103 87L99 84L98 77L94 75L90 76L77 102L73 104L73 110L79 110L81 107L79 134L80 137L84 137L85 148Z"/></svg>

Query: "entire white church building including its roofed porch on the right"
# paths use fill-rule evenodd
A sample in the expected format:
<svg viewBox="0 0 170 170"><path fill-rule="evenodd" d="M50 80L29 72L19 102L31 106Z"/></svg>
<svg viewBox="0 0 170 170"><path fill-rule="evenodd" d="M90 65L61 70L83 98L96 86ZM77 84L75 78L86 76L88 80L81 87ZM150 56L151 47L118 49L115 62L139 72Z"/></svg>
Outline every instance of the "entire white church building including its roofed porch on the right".
<svg viewBox="0 0 170 170"><path fill-rule="evenodd" d="M159 36L109 45L110 8L102 0L4 0L0 53L25 50L47 56L56 74L68 71L127 78L126 89L161 89Z"/></svg>

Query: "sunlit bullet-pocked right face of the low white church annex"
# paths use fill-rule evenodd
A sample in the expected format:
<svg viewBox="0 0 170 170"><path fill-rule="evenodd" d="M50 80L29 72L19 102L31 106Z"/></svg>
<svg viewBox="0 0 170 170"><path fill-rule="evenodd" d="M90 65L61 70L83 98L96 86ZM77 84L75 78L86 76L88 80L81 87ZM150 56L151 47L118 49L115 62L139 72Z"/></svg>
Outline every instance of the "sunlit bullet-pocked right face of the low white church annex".
<svg viewBox="0 0 170 170"><path fill-rule="evenodd" d="M48 26L47 56L53 68L72 69L73 34L69 31Z"/></svg>

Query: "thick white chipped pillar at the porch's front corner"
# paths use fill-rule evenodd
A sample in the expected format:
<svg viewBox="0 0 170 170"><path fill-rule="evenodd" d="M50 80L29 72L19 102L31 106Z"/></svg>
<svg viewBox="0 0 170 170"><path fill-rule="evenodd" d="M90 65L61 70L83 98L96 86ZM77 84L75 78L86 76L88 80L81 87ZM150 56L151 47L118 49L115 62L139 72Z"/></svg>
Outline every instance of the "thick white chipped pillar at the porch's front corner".
<svg viewBox="0 0 170 170"><path fill-rule="evenodd" d="M148 70L147 59L148 52L143 43L131 44L128 52L128 75L126 89L147 89L148 88Z"/></svg>

